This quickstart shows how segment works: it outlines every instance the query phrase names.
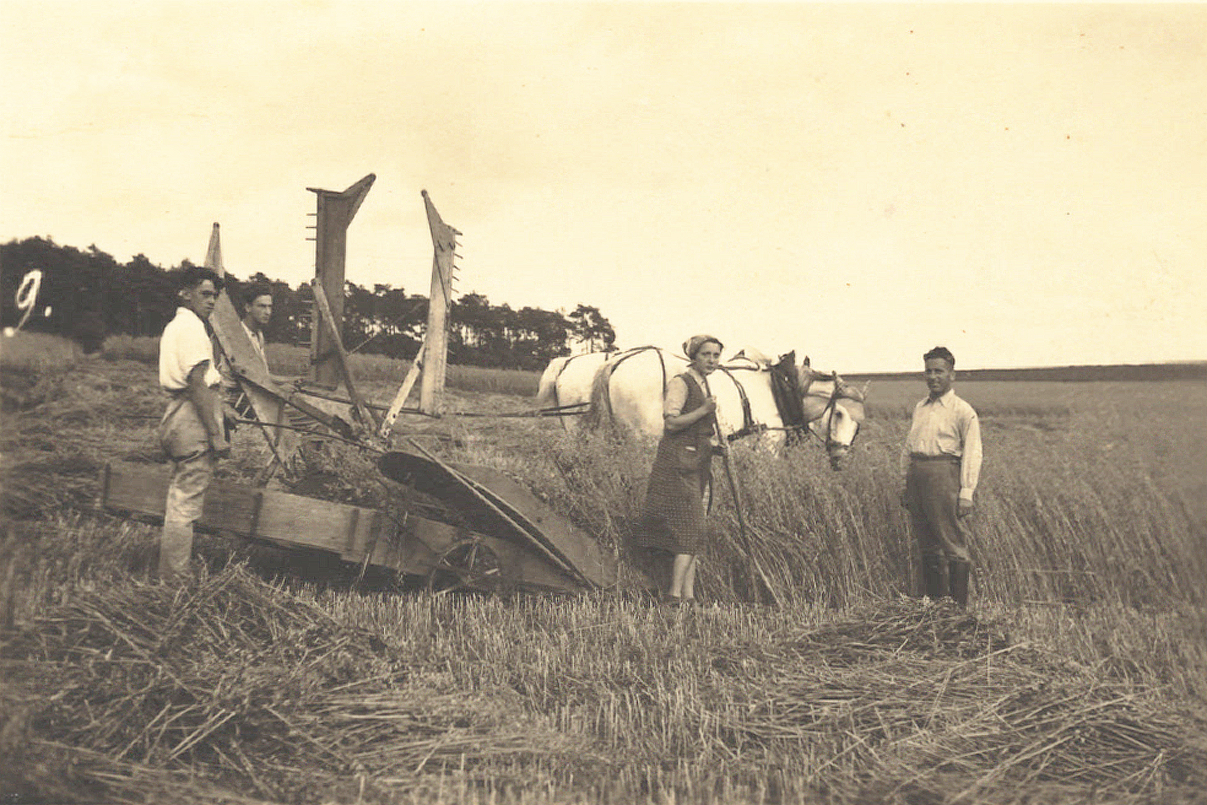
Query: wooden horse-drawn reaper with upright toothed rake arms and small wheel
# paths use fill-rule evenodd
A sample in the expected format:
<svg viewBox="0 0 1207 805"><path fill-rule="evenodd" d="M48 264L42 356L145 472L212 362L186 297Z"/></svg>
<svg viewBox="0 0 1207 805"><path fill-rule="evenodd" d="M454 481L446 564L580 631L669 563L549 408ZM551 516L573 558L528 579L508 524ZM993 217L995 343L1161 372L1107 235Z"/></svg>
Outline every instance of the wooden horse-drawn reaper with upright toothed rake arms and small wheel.
<svg viewBox="0 0 1207 805"><path fill-rule="evenodd" d="M393 418L404 410L402 406L414 374L408 375L381 421L357 393L339 337L343 305L332 304L331 290L343 287L343 231L372 182L369 174L343 193L314 191L319 194L319 211L310 379L338 377L344 381L348 399L323 392L322 383L316 384L317 391L275 383L255 360L251 340L226 291L210 325L238 383L243 409L249 421L263 432L273 454L261 483L272 472L297 473L297 466L305 462L303 448L308 443L337 439L377 454L377 467L383 476L441 502L455 517L441 518L442 507L436 507L436 515L431 507L408 509L406 500L401 511L400 506L385 511L262 485L214 482L197 527L286 549L323 552L360 566L360 576L369 567L384 568L424 581L432 590L572 593L612 587L617 578L616 556L517 482L489 467L447 463L414 439L409 450L391 449ZM441 220L426 191L422 196L436 246L433 304L421 348L425 380L421 404L410 413L438 415L447 302L455 272L455 235L460 233ZM222 273L216 223L206 266ZM112 462L101 477L100 506L127 517L162 521L167 486L167 474L159 466Z"/></svg>

